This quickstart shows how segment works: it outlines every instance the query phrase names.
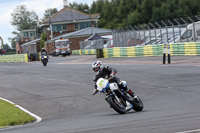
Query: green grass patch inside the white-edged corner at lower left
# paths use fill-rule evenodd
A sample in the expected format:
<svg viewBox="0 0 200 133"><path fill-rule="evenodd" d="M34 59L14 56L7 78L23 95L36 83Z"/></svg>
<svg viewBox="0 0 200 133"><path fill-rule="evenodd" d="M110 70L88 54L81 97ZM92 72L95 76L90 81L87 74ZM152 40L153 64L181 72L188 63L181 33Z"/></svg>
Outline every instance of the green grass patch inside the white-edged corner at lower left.
<svg viewBox="0 0 200 133"><path fill-rule="evenodd" d="M24 125L35 119L14 105L0 100L0 128L4 126Z"/></svg>

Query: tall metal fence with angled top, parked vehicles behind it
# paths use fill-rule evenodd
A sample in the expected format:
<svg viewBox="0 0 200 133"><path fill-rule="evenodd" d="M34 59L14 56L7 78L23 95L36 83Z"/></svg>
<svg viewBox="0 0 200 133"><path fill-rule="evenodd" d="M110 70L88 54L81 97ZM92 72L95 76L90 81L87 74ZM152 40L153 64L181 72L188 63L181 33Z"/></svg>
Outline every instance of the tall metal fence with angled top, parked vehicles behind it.
<svg viewBox="0 0 200 133"><path fill-rule="evenodd" d="M199 41L199 16L134 25L113 31L114 47Z"/></svg>

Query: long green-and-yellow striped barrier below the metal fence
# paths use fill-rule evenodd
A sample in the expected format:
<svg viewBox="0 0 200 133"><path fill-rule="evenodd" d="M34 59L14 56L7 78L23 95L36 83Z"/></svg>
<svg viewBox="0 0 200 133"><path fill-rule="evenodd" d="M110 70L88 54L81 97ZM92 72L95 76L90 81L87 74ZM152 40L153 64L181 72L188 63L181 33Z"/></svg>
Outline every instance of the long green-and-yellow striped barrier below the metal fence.
<svg viewBox="0 0 200 133"><path fill-rule="evenodd" d="M171 55L200 55L200 42L174 43L170 45ZM164 44L135 47L113 47L103 49L104 58L162 56ZM96 54L95 49L73 50L73 55Z"/></svg>

